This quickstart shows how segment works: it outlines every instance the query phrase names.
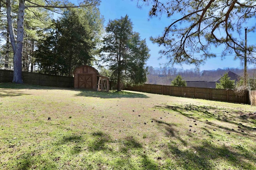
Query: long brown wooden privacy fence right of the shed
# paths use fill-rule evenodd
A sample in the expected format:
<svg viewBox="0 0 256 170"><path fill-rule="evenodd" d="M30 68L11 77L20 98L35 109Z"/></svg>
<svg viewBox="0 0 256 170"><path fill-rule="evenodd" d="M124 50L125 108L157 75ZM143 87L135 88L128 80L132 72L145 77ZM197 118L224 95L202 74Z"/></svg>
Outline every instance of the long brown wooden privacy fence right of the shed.
<svg viewBox="0 0 256 170"><path fill-rule="evenodd" d="M180 87L180 86L164 86L158 84L144 84L141 86L128 86L125 90L146 92L153 94L164 94L170 96L198 98L206 100L215 100L230 103L250 104L249 92L244 91L242 96L236 95L234 90L216 89L216 88L197 88L197 87Z"/></svg>

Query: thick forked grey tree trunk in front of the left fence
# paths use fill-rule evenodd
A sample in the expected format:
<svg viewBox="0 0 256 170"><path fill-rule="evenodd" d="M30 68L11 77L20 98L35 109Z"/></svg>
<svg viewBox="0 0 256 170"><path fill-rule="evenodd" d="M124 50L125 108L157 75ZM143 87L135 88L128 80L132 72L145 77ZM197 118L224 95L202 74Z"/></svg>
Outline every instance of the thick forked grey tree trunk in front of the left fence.
<svg viewBox="0 0 256 170"><path fill-rule="evenodd" d="M12 23L12 6L10 0L6 0L8 28L10 32L10 40L14 51L13 57L13 79L12 82L22 83L22 47L24 37L24 13L25 0L20 0L18 9L17 22L17 40L15 40L14 28Z"/></svg>

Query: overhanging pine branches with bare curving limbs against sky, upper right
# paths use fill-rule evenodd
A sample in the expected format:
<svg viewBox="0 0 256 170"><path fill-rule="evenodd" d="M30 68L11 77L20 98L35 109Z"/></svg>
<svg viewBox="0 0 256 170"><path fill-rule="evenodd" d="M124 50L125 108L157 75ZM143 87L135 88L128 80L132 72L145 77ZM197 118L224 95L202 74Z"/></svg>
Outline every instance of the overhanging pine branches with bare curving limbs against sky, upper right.
<svg viewBox="0 0 256 170"><path fill-rule="evenodd" d="M148 5L149 15L167 17L160 36L151 40L163 49L160 54L170 63L200 64L216 57L214 49L221 47L222 55L244 57L247 49L248 62L255 63L256 46L245 47L244 27L255 31L255 0L137 0L138 7ZM175 18L175 19L174 19Z"/></svg>

